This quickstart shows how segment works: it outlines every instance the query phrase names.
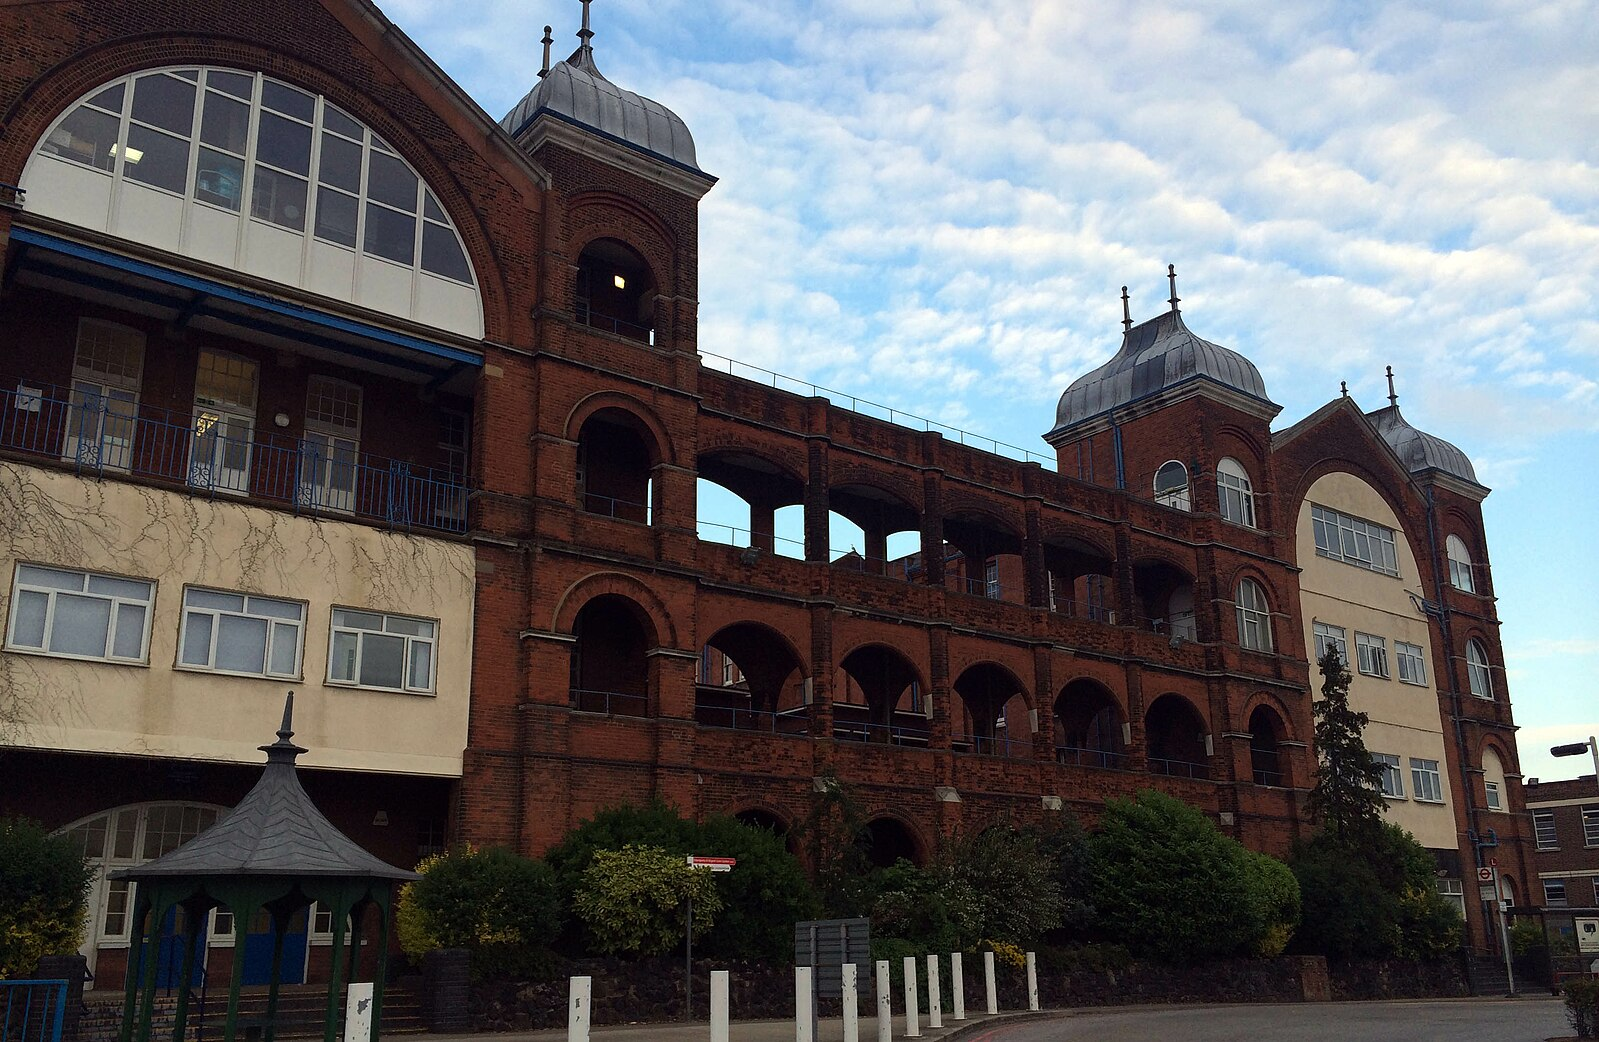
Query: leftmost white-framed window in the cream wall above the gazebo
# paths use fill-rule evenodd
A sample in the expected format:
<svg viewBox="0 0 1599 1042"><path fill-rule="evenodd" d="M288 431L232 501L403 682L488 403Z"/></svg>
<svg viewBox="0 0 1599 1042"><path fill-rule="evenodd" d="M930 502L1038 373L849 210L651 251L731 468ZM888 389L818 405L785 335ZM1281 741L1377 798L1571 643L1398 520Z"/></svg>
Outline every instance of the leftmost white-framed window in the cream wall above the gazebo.
<svg viewBox="0 0 1599 1042"><path fill-rule="evenodd" d="M154 599L154 582L18 564L6 647L64 658L144 662Z"/></svg>

